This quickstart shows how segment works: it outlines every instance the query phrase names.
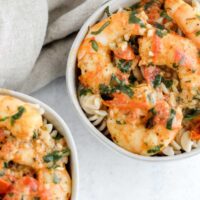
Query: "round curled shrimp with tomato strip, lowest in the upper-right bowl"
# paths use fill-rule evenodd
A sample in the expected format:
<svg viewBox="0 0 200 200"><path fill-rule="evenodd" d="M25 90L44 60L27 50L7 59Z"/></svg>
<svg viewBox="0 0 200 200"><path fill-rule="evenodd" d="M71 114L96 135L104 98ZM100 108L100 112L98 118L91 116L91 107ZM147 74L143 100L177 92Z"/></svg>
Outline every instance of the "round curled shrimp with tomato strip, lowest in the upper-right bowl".
<svg viewBox="0 0 200 200"><path fill-rule="evenodd" d="M162 93L141 84L132 99L115 94L106 102L107 126L115 143L140 155L154 155L167 147L181 128L182 110L173 108ZM176 111L175 111L176 110Z"/></svg>

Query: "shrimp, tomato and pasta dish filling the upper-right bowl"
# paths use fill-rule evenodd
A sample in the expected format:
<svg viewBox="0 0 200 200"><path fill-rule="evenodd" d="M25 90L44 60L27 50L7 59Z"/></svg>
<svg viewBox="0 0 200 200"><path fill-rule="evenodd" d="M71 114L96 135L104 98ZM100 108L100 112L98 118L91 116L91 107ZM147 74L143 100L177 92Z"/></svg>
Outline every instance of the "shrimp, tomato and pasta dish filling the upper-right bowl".
<svg viewBox="0 0 200 200"><path fill-rule="evenodd" d="M200 146L199 4L127 2L114 10L114 2L105 5L101 20L90 20L74 44L79 103L89 121L128 152L194 151Z"/></svg>

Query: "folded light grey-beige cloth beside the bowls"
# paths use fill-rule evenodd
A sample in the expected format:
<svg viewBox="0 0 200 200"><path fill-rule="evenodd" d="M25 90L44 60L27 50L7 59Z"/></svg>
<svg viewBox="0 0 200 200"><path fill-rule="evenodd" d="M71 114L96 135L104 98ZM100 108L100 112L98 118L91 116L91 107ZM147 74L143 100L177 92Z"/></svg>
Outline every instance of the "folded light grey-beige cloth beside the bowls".
<svg viewBox="0 0 200 200"><path fill-rule="evenodd" d="M31 93L64 76L76 32L104 2L0 1L0 87Z"/></svg>

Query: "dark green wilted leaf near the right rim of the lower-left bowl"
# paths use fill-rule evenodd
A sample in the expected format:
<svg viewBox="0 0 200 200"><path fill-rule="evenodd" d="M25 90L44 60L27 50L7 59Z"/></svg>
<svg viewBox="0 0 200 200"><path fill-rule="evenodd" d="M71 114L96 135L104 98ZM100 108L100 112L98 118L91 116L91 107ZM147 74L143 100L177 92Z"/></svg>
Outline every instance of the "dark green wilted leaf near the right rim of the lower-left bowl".
<svg viewBox="0 0 200 200"><path fill-rule="evenodd" d="M65 156L69 156L69 155L70 155L69 149L64 149L62 151L53 151L52 153L49 153L46 156L44 156L43 160L46 163L49 163L49 162L56 163L61 158L65 157Z"/></svg>

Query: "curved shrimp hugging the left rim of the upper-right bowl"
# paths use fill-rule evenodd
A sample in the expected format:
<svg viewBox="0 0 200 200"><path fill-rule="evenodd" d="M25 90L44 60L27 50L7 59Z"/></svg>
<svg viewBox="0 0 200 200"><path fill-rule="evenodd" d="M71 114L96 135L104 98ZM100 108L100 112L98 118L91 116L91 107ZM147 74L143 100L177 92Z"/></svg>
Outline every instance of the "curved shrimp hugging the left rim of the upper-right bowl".
<svg viewBox="0 0 200 200"><path fill-rule="evenodd" d="M144 12L121 11L89 29L78 52L78 67L81 69L79 79L83 86L98 93L100 83L109 83L111 75L117 72L112 63L112 52L119 59L137 60L133 49L123 40L144 35L146 20Z"/></svg>

